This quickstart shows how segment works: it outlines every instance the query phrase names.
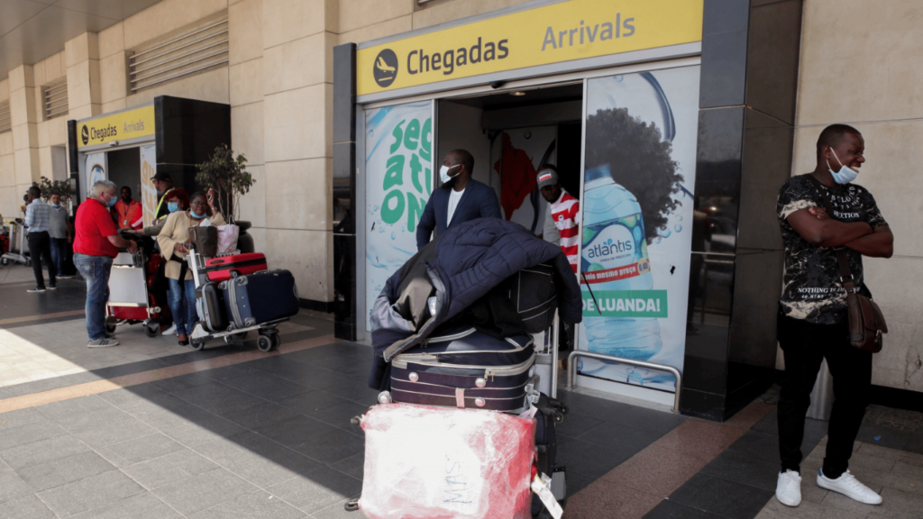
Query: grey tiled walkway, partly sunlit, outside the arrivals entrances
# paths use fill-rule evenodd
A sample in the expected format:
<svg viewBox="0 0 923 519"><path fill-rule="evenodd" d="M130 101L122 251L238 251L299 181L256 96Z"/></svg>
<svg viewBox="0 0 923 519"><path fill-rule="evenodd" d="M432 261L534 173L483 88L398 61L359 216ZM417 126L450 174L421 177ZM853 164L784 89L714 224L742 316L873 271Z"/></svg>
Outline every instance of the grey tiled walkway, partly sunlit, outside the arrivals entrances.
<svg viewBox="0 0 923 519"><path fill-rule="evenodd" d="M350 418L375 404L371 352L333 339L328 316L295 316L272 354L194 352L139 326L89 349L82 284L26 294L30 274L0 268L0 519L361 516L342 504L362 488ZM881 490L874 507L814 485L826 423L809 420L804 501L786 508L773 392L724 424L559 396L568 518L923 517L920 413L869 411L852 466Z"/></svg>

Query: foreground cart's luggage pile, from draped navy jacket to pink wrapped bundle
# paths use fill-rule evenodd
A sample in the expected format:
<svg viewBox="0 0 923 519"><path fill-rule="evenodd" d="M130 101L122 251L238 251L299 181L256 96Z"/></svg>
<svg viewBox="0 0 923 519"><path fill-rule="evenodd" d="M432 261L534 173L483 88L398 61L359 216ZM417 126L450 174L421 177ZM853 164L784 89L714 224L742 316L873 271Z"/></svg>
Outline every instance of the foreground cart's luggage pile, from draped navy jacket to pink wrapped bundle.
<svg viewBox="0 0 923 519"><path fill-rule="evenodd" d="M516 223L451 228L389 279L371 310L379 404L366 431L372 519L560 517L558 316L581 320L560 248ZM403 447L402 447L403 446Z"/></svg>

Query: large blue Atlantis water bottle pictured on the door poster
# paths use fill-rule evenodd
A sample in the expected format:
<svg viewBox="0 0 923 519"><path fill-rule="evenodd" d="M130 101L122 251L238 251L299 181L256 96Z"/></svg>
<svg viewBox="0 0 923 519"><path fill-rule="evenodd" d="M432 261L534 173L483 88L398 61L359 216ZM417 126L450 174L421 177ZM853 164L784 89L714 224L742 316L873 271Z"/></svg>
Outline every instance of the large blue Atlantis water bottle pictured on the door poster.
<svg viewBox="0 0 923 519"><path fill-rule="evenodd" d="M608 164L588 169L584 182L581 283L589 283L594 293L651 290L638 199L612 179ZM647 360L663 344L660 324L653 318L592 317L585 312L583 322L592 352Z"/></svg>

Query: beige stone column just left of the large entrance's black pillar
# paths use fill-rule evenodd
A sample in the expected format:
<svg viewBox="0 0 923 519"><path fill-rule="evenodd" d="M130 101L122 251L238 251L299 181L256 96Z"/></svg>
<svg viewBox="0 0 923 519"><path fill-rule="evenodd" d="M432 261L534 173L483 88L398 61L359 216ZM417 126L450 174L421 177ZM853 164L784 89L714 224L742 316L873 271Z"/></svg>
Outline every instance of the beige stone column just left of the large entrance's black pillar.
<svg viewBox="0 0 923 519"><path fill-rule="evenodd" d="M333 299L332 48L336 0L263 0L266 246L309 307Z"/></svg>

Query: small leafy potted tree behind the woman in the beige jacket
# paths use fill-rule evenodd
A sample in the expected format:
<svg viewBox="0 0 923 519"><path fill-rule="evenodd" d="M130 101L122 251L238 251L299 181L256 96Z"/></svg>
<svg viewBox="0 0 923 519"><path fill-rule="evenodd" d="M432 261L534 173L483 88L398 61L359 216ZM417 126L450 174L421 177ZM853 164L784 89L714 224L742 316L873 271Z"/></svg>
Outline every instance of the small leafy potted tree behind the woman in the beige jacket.
<svg viewBox="0 0 923 519"><path fill-rule="evenodd" d="M196 168L196 183L204 189L213 189L218 211L228 223L240 227L237 247L241 252L253 252L253 236L246 234L250 223L238 220L240 198L257 182L246 171L246 157L239 153L234 156L234 150L222 144L207 162L196 164Z"/></svg>

